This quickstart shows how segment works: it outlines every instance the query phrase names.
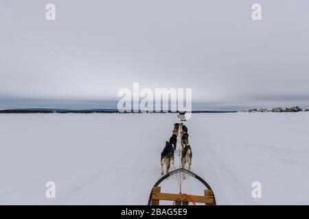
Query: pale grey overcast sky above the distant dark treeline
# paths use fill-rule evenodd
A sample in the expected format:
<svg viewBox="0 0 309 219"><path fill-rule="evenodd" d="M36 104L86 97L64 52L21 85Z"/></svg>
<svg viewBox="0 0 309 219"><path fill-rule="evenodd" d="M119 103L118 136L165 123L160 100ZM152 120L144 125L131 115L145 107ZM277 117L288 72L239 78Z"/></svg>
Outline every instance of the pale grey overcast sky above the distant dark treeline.
<svg viewBox="0 0 309 219"><path fill-rule="evenodd" d="M133 82L205 110L309 107L309 1L0 0L0 108L114 107Z"/></svg>

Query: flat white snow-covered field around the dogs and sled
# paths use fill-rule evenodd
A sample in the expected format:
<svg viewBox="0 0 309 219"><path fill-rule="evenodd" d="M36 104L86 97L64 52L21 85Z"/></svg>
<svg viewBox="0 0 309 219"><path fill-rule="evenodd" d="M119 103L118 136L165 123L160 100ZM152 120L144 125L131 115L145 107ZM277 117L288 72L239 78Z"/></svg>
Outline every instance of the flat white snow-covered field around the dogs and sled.
<svg viewBox="0 0 309 219"><path fill-rule="evenodd" d="M146 205L176 122L176 114L0 114L0 204ZM309 204L309 113L193 114L185 125L192 171L218 205ZM252 198L253 181L262 198ZM178 191L175 176L161 186ZM187 177L183 192L203 195L203 186Z"/></svg>

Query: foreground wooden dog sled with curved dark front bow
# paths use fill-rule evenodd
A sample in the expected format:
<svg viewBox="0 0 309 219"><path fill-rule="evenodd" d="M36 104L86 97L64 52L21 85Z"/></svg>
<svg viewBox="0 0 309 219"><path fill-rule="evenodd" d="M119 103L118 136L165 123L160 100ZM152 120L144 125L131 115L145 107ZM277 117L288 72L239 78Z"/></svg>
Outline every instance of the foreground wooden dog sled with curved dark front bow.
<svg viewBox="0 0 309 219"><path fill-rule="evenodd" d="M197 195L192 195L192 194L184 194L179 192L179 194L172 194L172 193L163 193L161 192L161 187L159 186L162 181L165 179L168 179L168 177L171 177L172 175L177 175L177 174L187 174L190 175L191 177L194 177L194 179L197 179L203 185L205 185L205 190L204 190L204 196L197 196ZM148 199L148 205L159 205L160 201L173 201L174 205L189 205L189 203L192 203L195 205L195 203L204 203L205 205L216 205L216 198L214 196L214 192L211 190L211 187L209 184L196 175L194 172L191 172L189 170L186 170L185 168L179 168L176 169L172 172L169 172L168 174L164 175L155 183L153 186L150 196Z"/></svg>

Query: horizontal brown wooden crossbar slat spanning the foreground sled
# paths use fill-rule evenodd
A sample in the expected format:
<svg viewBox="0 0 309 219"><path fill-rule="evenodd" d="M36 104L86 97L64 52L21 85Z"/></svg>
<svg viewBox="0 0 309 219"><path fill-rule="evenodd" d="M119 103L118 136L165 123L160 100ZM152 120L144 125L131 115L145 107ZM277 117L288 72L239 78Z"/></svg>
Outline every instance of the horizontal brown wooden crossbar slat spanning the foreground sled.
<svg viewBox="0 0 309 219"><path fill-rule="evenodd" d="M185 194L170 194L170 193L160 193L152 190L152 200L165 200L165 201L187 201L191 202L190 198L188 198ZM191 195L192 200L195 203L205 203L208 205L214 205L214 199L208 196L194 196Z"/></svg>

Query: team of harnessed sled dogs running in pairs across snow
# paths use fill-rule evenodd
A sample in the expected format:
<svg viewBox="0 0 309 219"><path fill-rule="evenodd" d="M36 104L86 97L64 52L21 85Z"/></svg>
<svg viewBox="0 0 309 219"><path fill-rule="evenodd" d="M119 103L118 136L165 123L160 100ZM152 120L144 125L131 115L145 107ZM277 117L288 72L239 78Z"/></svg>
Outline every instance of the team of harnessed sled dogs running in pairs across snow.
<svg viewBox="0 0 309 219"><path fill-rule="evenodd" d="M170 171L170 164L174 164L174 151L176 150L177 137L181 131L181 167L185 168L188 164L188 170L192 164L192 149L189 144L189 134L187 127L183 123L175 123L172 131L172 137L165 142L165 147L161 153L161 175L164 175L163 166L165 164L166 173Z"/></svg>

